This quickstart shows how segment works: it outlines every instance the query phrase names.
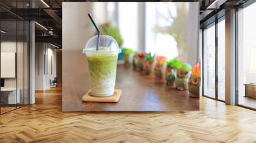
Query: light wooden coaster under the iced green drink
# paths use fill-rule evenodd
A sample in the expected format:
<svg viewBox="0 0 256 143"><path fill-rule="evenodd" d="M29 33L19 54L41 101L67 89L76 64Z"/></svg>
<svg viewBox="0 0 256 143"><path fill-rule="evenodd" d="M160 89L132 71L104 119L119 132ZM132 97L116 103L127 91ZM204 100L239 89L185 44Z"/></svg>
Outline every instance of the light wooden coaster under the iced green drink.
<svg viewBox="0 0 256 143"><path fill-rule="evenodd" d="M113 96L108 97L97 97L93 96L91 93L91 89L84 94L82 97L83 102L118 102L122 94L121 89L115 89Z"/></svg>

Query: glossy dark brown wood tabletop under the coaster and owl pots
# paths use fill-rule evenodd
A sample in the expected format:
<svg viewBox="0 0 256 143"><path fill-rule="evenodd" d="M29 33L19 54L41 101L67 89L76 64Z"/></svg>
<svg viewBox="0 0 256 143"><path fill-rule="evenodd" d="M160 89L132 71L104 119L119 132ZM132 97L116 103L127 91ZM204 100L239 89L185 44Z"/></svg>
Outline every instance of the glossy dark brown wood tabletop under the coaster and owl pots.
<svg viewBox="0 0 256 143"><path fill-rule="evenodd" d="M63 87L63 112L199 110L199 98L189 97L188 91L177 91L167 86L164 80L157 80L153 75L134 72L131 68L124 68L121 64L118 65L116 73L116 89L122 89L122 97L118 103L82 102L82 96L90 89L88 71L84 74L85 77L78 79L76 84L70 84L70 86L66 84ZM72 77L67 79L72 79Z"/></svg>

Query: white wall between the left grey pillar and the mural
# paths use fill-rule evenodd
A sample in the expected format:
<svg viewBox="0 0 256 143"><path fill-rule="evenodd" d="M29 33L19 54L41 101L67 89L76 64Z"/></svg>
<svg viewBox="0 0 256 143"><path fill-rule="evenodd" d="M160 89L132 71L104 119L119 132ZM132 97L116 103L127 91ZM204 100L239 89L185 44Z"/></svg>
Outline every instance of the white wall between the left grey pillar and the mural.
<svg viewBox="0 0 256 143"><path fill-rule="evenodd" d="M35 90L49 89L50 79L56 77L56 49L49 43L36 43L35 47ZM52 72L49 67L52 67Z"/></svg>

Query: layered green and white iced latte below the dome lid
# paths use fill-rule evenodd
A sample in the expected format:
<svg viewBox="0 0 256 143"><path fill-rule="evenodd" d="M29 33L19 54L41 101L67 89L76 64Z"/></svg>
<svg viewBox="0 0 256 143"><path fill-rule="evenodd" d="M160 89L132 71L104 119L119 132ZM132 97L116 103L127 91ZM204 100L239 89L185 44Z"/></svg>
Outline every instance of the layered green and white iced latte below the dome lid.
<svg viewBox="0 0 256 143"><path fill-rule="evenodd" d="M109 54L106 52L87 56L93 95L113 95L115 91L117 57L118 53Z"/></svg>

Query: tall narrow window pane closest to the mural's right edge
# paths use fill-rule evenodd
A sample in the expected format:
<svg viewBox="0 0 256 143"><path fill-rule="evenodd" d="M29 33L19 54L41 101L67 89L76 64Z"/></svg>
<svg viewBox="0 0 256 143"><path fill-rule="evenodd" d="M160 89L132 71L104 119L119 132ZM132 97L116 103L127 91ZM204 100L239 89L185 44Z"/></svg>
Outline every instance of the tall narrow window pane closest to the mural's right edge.
<svg viewBox="0 0 256 143"><path fill-rule="evenodd" d="M215 25L204 29L204 96L215 98Z"/></svg>

